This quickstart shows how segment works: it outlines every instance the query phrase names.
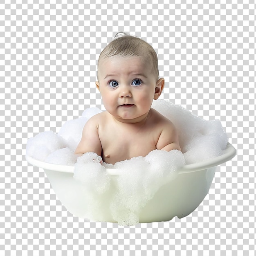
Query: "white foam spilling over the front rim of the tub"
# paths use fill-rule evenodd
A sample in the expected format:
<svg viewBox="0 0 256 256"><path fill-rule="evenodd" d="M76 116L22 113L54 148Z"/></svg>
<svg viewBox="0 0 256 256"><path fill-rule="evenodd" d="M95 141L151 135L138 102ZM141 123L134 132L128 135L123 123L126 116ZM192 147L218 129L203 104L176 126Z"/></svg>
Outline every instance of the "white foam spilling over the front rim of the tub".
<svg viewBox="0 0 256 256"><path fill-rule="evenodd" d="M109 176L101 164L101 157L85 153L74 167L74 179L83 186L84 217L103 221L107 207L111 210L111 218L119 225L137 224L139 213L148 200L162 185L173 180L177 169L184 164L179 150L153 150L146 157L117 162L112 168L118 168L119 175ZM113 186L117 193L112 193Z"/></svg>

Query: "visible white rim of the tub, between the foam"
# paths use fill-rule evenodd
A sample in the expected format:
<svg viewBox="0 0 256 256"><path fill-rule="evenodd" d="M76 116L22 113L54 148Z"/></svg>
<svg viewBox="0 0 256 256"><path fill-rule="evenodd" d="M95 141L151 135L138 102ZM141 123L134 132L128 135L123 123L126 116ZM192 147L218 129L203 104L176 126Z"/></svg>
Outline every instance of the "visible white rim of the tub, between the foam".
<svg viewBox="0 0 256 256"><path fill-rule="evenodd" d="M223 164L236 155L236 149L230 143L227 143L225 150L222 150L223 154L218 157L213 157L209 160L205 160L198 163L186 164L179 169L179 173L190 173L195 171L202 171L214 166ZM29 164L43 168L50 171L58 171L64 173L74 173L74 166L61 165L61 164L50 164L47 162L40 161L34 157L26 155L26 160ZM109 175L118 175L118 169L115 168L106 168L106 171Z"/></svg>

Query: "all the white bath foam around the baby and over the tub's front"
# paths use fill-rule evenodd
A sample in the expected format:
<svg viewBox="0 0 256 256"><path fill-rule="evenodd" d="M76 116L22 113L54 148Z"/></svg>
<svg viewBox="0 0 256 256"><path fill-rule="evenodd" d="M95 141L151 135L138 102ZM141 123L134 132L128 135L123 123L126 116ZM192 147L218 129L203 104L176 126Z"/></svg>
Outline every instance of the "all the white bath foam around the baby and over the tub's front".
<svg viewBox="0 0 256 256"><path fill-rule="evenodd" d="M110 219L121 225L135 225L146 202L162 184L177 175L177 168L221 155L228 141L218 120L206 121L164 100L154 101L152 107L170 119L179 131L183 154L179 150L153 150L146 157L134 157L114 166L101 164L101 157L95 153L76 158L74 150L84 124L101 112L93 108L85 110L80 118L67 121L58 135L42 132L30 138L27 155L45 162L74 166L74 179L80 182L86 202L84 218L103 221L104 209L108 207ZM119 168L120 175L109 177L106 168ZM118 193L112 193L112 186L117 187Z"/></svg>

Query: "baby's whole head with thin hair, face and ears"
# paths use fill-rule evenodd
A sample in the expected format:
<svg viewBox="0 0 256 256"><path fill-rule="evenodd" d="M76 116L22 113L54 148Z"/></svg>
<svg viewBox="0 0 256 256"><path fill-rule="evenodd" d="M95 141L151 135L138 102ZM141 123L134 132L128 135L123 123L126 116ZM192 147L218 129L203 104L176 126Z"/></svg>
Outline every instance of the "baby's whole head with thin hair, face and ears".
<svg viewBox="0 0 256 256"><path fill-rule="evenodd" d="M124 34L108 44L99 56L96 82L107 112L132 122L146 117L164 88L157 62L153 47L135 36Z"/></svg>

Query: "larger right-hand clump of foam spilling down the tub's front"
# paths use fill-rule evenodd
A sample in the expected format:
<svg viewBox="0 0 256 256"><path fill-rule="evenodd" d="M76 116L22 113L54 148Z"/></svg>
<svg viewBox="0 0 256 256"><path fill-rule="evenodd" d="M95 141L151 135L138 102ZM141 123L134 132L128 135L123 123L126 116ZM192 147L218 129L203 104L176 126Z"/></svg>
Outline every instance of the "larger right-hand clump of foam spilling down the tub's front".
<svg viewBox="0 0 256 256"><path fill-rule="evenodd" d="M184 165L185 159L179 150L153 150L146 157L117 162L114 166L120 174L117 177L118 193L110 202L112 218L119 225L138 223L139 213L148 200L160 187L173 180L177 169Z"/></svg>

